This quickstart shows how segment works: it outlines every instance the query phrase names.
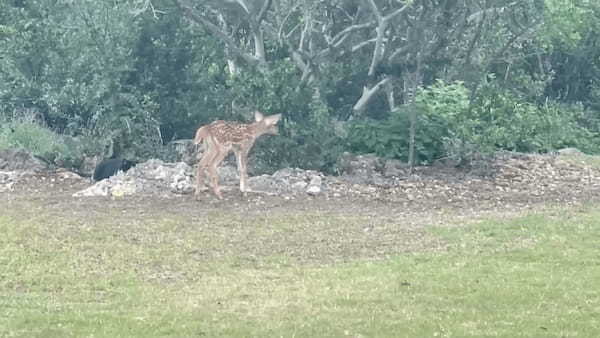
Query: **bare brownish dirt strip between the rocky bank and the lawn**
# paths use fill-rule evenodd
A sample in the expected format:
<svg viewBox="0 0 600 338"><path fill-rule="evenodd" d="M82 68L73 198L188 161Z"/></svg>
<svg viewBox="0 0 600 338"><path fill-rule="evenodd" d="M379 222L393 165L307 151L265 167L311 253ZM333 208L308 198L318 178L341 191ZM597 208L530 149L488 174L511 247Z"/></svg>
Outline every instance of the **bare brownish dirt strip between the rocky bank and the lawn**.
<svg viewBox="0 0 600 338"><path fill-rule="evenodd" d="M10 191L0 192L1 214L114 227L115 236L131 240L139 240L136 233L143 237L145 224L171 220L175 237L194 231L215 239L214 245L189 251L201 259L256 262L285 256L327 264L444 250L444 243L426 231L429 226L600 200L595 166L549 157L504 161L490 177L427 168L395 186L354 184L336 190L331 183L330 192L318 196L242 196L226 187L224 200L208 192L199 200L193 195L73 197L90 184L60 173L25 175Z"/></svg>

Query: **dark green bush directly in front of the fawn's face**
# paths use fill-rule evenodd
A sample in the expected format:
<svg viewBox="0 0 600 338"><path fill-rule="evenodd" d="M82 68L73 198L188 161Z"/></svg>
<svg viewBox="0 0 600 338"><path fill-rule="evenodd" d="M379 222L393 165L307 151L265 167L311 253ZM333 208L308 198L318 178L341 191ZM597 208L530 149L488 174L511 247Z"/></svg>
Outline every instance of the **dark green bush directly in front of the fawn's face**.
<svg viewBox="0 0 600 338"><path fill-rule="evenodd" d="M254 153L261 159L257 172L281 167L335 170L344 145L335 133L329 108L313 89L298 87L296 70L288 61L265 72L237 74L228 79L228 85L235 105L283 114L281 136L265 137L255 146Z"/></svg>

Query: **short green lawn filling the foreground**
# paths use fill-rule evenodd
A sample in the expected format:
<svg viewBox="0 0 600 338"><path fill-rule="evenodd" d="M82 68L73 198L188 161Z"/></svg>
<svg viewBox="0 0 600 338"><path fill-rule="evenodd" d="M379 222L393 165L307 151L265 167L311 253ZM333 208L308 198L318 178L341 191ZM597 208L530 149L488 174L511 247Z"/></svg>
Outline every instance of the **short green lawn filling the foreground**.
<svg viewBox="0 0 600 338"><path fill-rule="evenodd" d="M49 226L43 212L11 213L0 216L0 336L597 337L599 220L591 206L549 208L431 228L445 251L244 265L227 248L190 254L169 235L184 231L177 221L139 225L140 240L102 218Z"/></svg>

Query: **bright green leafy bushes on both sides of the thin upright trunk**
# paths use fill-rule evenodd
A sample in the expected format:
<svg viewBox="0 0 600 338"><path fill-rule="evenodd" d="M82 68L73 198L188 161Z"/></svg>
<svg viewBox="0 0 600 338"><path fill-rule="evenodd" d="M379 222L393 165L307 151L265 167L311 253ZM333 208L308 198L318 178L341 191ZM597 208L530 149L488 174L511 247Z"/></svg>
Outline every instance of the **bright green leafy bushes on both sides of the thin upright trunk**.
<svg viewBox="0 0 600 338"><path fill-rule="evenodd" d="M580 105L547 101L538 106L494 83L470 96L460 82L438 81L417 93L417 161L450 157L464 162L497 150L597 152L598 135L590 128L598 123L590 123ZM408 130L408 112L399 109L385 120L354 122L348 143L355 152L406 160Z"/></svg>

